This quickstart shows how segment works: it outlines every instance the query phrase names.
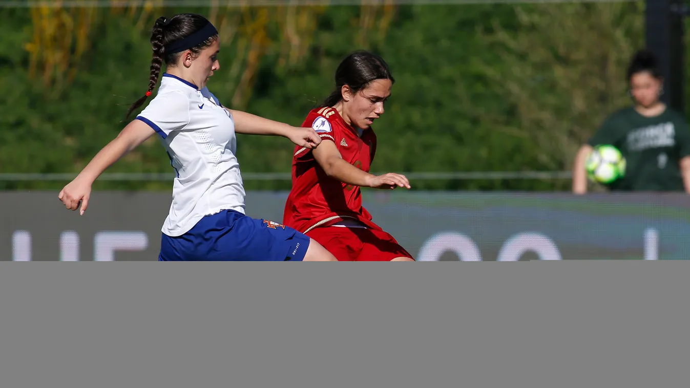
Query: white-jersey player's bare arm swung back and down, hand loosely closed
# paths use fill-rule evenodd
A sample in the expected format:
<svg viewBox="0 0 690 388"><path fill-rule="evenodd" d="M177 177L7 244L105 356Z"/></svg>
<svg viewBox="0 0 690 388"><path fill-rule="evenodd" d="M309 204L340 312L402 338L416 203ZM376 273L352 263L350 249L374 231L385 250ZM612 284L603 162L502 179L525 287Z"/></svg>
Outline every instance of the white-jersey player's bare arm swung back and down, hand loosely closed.
<svg viewBox="0 0 690 388"><path fill-rule="evenodd" d="M146 123L139 120L132 121L91 159L88 165L62 189L57 197L69 210L79 208L79 214L83 215L86 207L88 207L91 185L96 178L127 152L134 150L155 133ZM80 202L81 206L79 205Z"/></svg>

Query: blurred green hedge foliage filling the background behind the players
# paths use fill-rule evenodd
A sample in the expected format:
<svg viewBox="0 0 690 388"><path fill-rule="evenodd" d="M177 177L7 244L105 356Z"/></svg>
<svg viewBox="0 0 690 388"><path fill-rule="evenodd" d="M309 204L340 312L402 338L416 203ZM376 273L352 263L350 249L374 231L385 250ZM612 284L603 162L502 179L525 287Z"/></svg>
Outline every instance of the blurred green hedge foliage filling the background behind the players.
<svg viewBox="0 0 690 388"><path fill-rule="evenodd" d="M0 172L77 174L126 124L128 104L146 90L147 26L156 15L99 12L73 81L45 85L29 72L26 44L39 28L32 26L30 12L0 11ZM397 81L375 127L380 147L373 172L567 170L575 149L605 114L627 103L621 74L631 52L642 46L644 22L641 2L399 6L386 28L362 28L362 12L373 11L315 12L306 55L287 65L284 45L270 41L248 100L233 108L299 125L331 92L340 59L367 48L382 54ZM382 14L373 14L383 23ZM228 44L209 88L232 105L244 101L233 86L241 47ZM238 139L244 172L289 172L292 150L286 139ZM109 172L169 173L170 163L151 139ZM63 184L0 182L0 189ZM562 190L567 184L413 182L424 190ZM246 186L284 190L289 182ZM170 183L103 181L95 188L170 190Z"/></svg>

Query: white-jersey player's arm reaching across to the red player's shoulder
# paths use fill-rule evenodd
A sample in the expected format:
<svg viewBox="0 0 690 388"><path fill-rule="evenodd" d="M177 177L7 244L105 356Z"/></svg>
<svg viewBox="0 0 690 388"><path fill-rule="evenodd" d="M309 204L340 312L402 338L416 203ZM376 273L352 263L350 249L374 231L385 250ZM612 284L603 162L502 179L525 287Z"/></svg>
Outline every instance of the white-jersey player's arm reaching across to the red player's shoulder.
<svg viewBox="0 0 690 388"><path fill-rule="evenodd" d="M312 149L321 143L321 138L313 128L293 127L286 123L264 119L255 114L230 110L226 108L235 119L235 132L238 134L259 134L283 136L300 147Z"/></svg>

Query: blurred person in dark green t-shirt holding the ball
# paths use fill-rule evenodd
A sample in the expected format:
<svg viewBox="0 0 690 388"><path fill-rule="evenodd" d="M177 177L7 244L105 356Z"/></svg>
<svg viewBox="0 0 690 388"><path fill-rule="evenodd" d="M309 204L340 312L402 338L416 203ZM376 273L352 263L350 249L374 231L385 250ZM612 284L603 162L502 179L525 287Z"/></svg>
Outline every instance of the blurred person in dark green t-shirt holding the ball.
<svg viewBox="0 0 690 388"><path fill-rule="evenodd" d="M648 51L635 54L628 69L634 105L611 114L580 147L573 165L573 192L587 191L585 161L593 147L609 144L626 159L615 191L690 192L690 130L685 117L660 101L663 79Z"/></svg>

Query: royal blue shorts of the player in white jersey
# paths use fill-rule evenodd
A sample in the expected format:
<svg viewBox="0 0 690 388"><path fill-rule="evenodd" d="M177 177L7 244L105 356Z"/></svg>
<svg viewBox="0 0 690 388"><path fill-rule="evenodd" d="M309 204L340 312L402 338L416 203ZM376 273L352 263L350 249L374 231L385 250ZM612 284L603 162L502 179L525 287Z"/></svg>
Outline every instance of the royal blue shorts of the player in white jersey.
<svg viewBox="0 0 690 388"><path fill-rule="evenodd" d="M179 237L163 234L159 261L302 261L310 238L273 221L223 210Z"/></svg>

